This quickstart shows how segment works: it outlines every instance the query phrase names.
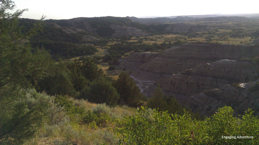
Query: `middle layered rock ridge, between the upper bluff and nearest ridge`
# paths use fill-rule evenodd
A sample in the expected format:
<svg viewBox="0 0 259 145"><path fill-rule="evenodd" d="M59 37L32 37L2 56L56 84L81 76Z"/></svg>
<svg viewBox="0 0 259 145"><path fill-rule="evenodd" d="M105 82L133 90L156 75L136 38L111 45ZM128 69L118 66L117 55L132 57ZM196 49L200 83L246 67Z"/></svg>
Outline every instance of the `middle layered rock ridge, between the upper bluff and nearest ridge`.
<svg viewBox="0 0 259 145"><path fill-rule="evenodd" d="M189 70L162 78L158 84L164 90L191 95L219 88L226 84L255 81L259 76L258 63L247 60L219 60L203 63Z"/></svg>

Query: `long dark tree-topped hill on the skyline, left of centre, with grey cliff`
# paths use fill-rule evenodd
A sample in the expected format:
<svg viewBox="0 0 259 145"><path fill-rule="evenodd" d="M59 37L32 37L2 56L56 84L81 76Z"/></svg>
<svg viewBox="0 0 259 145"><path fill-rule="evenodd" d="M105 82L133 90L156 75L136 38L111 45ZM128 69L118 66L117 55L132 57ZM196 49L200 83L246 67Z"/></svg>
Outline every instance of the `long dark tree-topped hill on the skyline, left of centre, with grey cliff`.
<svg viewBox="0 0 259 145"><path fill-rule="evenodd" d="M149 27L129 18L123 17L94 17L74 18L69 20L45 20L55 23L61 27L73 27L101 37L112 37L118 35L146 35Z"/></svg>

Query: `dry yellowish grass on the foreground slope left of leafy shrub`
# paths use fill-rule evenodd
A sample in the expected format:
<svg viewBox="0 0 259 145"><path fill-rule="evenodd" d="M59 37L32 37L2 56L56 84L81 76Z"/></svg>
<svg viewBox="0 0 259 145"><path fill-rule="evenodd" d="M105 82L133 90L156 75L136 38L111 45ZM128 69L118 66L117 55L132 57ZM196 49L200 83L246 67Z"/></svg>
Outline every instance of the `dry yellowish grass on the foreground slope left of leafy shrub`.
<svg viewBox="0 0 259 145"><path fill-rule="evenodd" d="M107 114L112 120L122 119L136 113L136 108L128 106L109 107L104 104L90 103L87 100L77 100L70 98L77 107L84 107L85 111L91 110L93 113ZM60 108L54 108L61 110ZM114 137L111 129L112 121L106 126L97 126L90 129L86 123L64 122L59 124L50 124L47 121L42 124L35 137L24 143L24 145L99 145L99 144L119 144L119 140Z"/></svg>

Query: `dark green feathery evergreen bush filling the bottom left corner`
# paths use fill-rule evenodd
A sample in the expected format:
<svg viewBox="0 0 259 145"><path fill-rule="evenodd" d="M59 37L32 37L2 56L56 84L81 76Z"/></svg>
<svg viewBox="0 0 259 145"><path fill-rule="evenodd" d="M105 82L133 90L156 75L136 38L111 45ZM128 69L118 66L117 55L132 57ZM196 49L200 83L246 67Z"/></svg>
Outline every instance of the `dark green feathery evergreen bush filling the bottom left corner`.
<svg viewBox="0 0 259 145"><path fill-rule="evenodd" d="M15 100L6 106L5 97ZM53 97L27 89L2 93L0 99L0 144L21 144L38 130Z"/></svg>

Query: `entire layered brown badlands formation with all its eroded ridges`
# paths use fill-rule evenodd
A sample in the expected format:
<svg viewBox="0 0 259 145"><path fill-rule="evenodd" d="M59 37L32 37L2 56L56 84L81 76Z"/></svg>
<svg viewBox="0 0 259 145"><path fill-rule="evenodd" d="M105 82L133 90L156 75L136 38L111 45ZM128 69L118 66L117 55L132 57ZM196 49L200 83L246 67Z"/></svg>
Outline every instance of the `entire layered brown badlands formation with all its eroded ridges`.
<svg viewBox="0 0 259 145"><path fill-rule="evenodd" d="M182 106L210 116L219 107L235 114L259 110L259 45L189 43L160 53L134 53L120 67L148 96L159 84Z"/></svg>

